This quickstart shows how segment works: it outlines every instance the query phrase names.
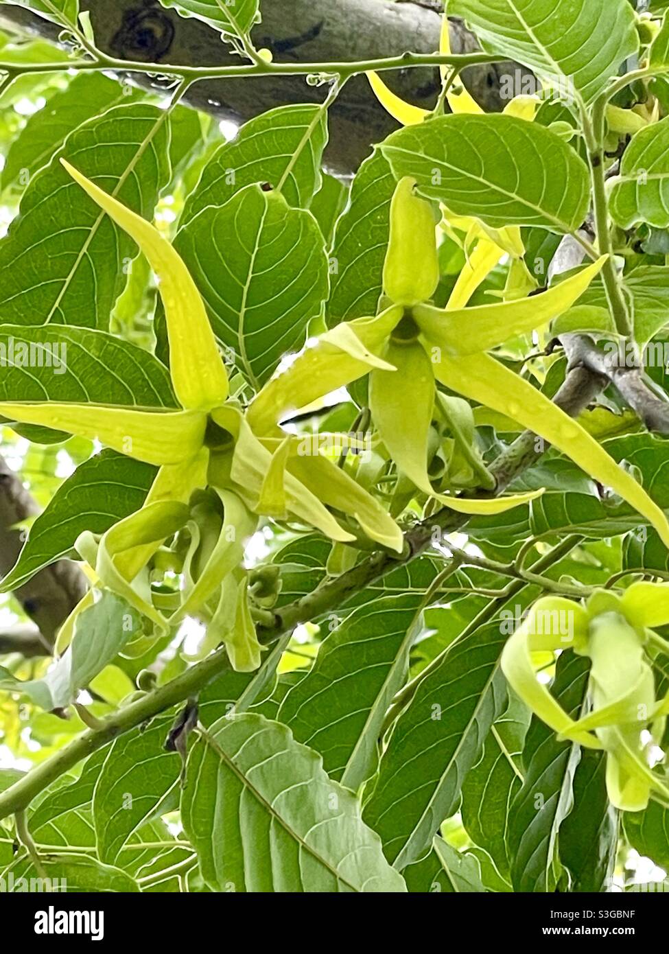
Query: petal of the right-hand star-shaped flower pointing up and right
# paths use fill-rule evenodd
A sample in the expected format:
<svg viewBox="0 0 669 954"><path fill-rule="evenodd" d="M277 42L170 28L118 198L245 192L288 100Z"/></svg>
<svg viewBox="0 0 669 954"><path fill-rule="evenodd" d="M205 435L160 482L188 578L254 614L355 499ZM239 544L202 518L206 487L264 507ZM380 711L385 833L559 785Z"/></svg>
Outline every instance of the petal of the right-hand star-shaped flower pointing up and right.
<svg viewBox="0 0 669 954"><path fill-rule="evenodd" d="M444 348L447 354L489 351L515 335L529 334L571 308L599 274L607 258L602 256L541 295L472 308L443 309L419 304L413 308L413 318L430 341Z"/></svg>

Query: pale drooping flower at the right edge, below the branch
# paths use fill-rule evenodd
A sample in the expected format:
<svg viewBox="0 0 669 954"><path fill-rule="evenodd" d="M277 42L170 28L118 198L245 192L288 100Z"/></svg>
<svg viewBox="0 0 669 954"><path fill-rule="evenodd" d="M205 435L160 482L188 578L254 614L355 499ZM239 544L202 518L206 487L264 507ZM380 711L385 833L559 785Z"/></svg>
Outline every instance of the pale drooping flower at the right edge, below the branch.
<svg viewBox="0 0 669 954"><path fill-rule="evenodd" d="M622 596L596 591L585 605L547 596L533 605L502 653L502 670L513 690L559 738L607 753L609 798L628 812L644 809L651 795L669 803L669 784L651 767L669 695L656 699L646 653L651 642L663 643L653 627L667 623L667 584L634 583ZM591 659L590 711L576 720L534 674L532 654L556 650Z"/></svg>

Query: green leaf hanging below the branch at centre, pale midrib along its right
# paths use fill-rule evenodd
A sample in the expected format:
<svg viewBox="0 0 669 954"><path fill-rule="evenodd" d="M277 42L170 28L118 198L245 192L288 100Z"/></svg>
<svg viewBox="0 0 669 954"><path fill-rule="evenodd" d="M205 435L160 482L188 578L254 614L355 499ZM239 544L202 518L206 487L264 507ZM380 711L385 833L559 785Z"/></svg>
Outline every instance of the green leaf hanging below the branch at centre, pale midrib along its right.
<svg viewBox="0 0 669 954"><path fill-rule="evenodd" d="M354 792L374 771L384 716L407 676L420 604L420 594L408 593L352 612L279 710L293 736L321 753L330 778Z"/></svg>

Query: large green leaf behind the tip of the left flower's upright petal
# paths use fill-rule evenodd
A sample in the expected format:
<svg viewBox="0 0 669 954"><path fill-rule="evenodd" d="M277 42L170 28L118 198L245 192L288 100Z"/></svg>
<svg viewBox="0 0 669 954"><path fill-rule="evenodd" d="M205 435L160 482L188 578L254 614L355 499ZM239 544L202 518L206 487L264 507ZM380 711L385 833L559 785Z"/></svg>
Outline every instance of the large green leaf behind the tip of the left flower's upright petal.
<svg viewBox="0 0 669 954"><path fill-rule="evenodd" d="M60 164L73 166L133 211L152 218L169 178L165 113L116 106L70 135L31 179L20 213L0 241L0 320L106 328L136 254ZM63 210L67 210L64 214Z"/></svg>

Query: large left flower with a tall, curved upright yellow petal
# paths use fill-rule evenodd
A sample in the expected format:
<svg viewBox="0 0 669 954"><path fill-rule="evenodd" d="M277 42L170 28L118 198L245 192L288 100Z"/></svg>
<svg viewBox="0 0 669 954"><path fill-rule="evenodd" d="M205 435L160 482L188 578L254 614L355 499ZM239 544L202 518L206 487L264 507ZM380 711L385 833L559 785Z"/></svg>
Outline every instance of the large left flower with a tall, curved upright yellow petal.
<svg viewBox="0 0 669 954"><path fill-rule="evenodd" d="M198 612L216 594L223 579L239 568L244 544L264 513L320 529L342 543L357 539L345 526L357 521L373 540L402 550L400 529L345 472L320 456L288 467L293 451L289 442L277 446L274 435L264 432L259 439L240 404L229 399L218 344L182 259L152 224L61 161L88 195L135 239L157 275L170 345L170 375L180 404L179 410L172 411L105 404L0 403L0 414L10 421L98 439L104 446L159 467L143 508L100 538L83 533L77 540L76 549L92 566L96 579L122 593L159 630L178 623L187 612ZM306 404L308 395L297 394ZM220 539L198 580L184 593L178 611L166 618L152 603L147 563L168 537L189 524L189 501L194 491L208 486L219 493L224 511ZM246 600L246 587L239 578L236 592L238 602ZM66 622L61 648L73 632L77 613L90 601L90 596L85 597ZM240 624L247 616L240 606L236 617ZM217 629L228 633L219 623L220 616ZM239 641L235 644L236 657L244 667L260 658L248 633L243 650ZM237 637L233 633L230 638Z"/></svg>

